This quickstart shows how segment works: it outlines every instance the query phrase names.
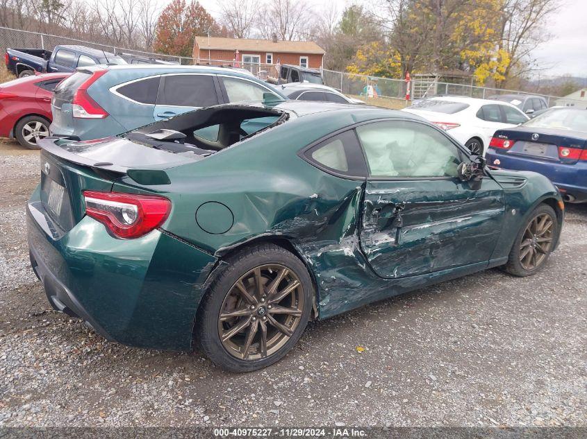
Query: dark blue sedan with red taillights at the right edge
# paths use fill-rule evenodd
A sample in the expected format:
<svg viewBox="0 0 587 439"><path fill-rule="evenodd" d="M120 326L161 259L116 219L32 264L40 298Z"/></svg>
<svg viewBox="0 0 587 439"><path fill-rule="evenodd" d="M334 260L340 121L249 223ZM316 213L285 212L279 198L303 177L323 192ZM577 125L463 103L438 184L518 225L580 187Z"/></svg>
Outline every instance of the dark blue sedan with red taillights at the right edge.
<svg viewBox="0 0 587 439"><path fill-rule="evenodd" d="M553 108L515 128L497 130L486 158L493 169L546 175L565 201L587 202L587 110Z"/></svg>

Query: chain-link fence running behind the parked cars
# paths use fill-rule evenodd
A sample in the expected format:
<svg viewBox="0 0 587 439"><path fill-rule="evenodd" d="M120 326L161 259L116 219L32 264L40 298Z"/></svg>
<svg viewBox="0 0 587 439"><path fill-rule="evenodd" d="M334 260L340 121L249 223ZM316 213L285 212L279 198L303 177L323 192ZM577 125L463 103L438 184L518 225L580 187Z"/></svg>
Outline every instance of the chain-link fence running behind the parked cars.
<svg viewBox="0 0 587 439"><path fill-rule="evenodd" d="M139 55L144 58L157 58L160 60L177 62L182 65L214 65L214 66L232 66L246 69L257 78L267 80L268 78L279 77L279 64L257 64L243 63L236 60L212 60L205 58L191 58L186 56L166 55L163 53L154 53L136 49L127 49L112 44L88 42L78 40L72 37L63 37L60 35L51 35L47 33L38 33L32 31L22 31L19 29L6 28L0 26L0 50L6 51L8 47L34 47L53 50L60 44L82 44L94 49L108 51L111 53ZM403 79L381 78L377 76L367 76L358 74L349 74L342 71L331 71L322 69L322 79L324 84L334 89L338 89L344 94L353 96L365 96L370 98L388 98L395 100L405 100L406 82ZM426 83L427 92L424 96L416 96L419 83L417 78L411 81L411 97L427 98L439 95L458 95L470 96L473 98L489 98L490 96L502 94L532 94L543 96L547 99L549 106L566 105L573 107L587 107L587 101L584 99L561 98L560 96L549 96L545 94L536 94L531 92L521 92L519 90L495 89L490 87L478 87L467 84L440 83L434 82L433 86ZM420 84L421 85L421 84ZM421 93L419 93L421 94Z"/></svg>

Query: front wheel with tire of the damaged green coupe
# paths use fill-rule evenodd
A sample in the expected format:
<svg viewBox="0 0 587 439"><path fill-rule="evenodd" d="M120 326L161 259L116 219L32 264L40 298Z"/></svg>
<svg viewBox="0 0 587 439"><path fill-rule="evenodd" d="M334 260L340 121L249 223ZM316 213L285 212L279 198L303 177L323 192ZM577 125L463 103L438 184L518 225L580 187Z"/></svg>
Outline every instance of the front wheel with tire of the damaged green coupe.
<svg viewBox="0 0 587 439"><path fill-rule="evenodd" d="M545 204L536 207L515 237L505 270L521 277L536 273L556 247L559 233L554 209Z"/></svg>

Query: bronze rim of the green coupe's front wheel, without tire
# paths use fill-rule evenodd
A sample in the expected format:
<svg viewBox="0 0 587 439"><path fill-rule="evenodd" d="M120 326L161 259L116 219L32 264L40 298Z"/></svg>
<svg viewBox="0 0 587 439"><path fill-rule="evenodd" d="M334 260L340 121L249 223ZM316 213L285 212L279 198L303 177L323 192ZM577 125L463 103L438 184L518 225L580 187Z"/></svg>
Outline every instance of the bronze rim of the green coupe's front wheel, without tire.
<svg viewBox="0 0 587 439"><path fill-rule="evenodd" d="M530 221L520 242L520 264L524 270L534 270L552 250L554 221L549 214L538 214Z"/></svg>

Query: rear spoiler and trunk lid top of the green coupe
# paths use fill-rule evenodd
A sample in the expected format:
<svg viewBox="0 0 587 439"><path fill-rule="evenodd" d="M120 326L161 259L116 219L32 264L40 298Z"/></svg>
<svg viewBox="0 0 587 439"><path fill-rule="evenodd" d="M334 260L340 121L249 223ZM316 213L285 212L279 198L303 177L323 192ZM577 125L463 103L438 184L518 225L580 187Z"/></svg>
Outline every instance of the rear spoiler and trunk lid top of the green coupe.
<svg viewBox="0 0 587 439"><path fill-rule="evenodd" d="M71 144L56 144L60 140L72 140L76 142L75 139L69 137L45 137L38 141L38 146L50 155L59 157L61 160L87 166L94 171L113 173L117 177L128 175L135 182L144 185L170 184L171 181L165 169L192 162L192 160L186 157L167 153L163 150L147 148L147 151L145 151L145 146L133 144L124 139L117 139L116 137L85 142L78 147L75 153L72 151L73 148L68 148ZM117 141L120 141L120 144L117 145ZM122 148L124 148L124 153L120 154L120 158L123 161L129 157L144 158L147 156L149 160L144 160L144 167L140 163L140 167L134 167L110 162L108 157L116 156ZM146 152L148 153L145 154ZM106 155L105 160L97 160L94 157L94 155L102 155L102 153ZM161 169L162 165L165 166L165 169Z"/></svg>

